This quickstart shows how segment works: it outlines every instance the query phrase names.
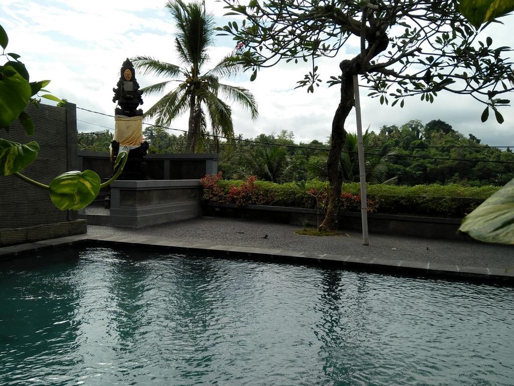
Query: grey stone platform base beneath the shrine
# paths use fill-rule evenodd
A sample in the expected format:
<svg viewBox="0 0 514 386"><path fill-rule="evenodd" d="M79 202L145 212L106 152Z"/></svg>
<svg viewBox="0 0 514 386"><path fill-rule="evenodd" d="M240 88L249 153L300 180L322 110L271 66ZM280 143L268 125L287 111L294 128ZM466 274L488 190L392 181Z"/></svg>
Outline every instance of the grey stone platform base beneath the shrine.
<svg viewBox="0 0 514 386"><path fill-rule="evenodd" d="M109 215L79 213L89 224L141 227L201 216L199 180L115 181Z"/></svg>

